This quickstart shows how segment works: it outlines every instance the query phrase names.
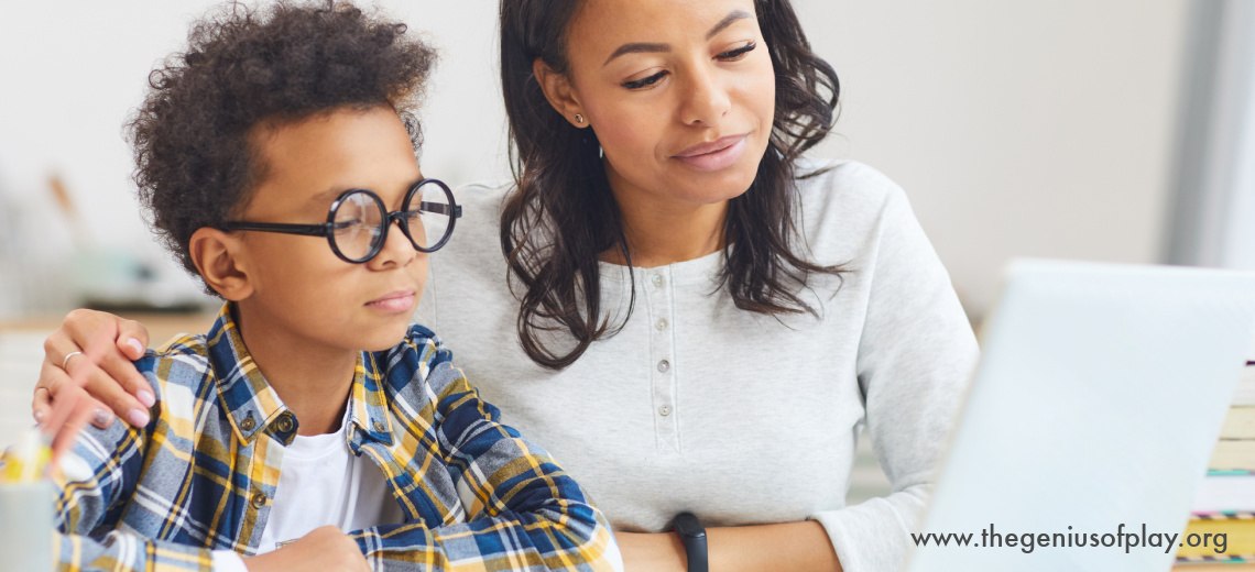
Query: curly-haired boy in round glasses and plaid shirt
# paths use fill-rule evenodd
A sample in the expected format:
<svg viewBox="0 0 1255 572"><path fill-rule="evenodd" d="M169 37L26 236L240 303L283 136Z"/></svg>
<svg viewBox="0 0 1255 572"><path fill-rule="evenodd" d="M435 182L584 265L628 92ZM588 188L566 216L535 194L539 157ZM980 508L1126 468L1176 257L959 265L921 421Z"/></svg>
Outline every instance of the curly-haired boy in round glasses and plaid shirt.
<svg viewBox="0 0 1255 572"><path fill-rule="evenodd" d="M345 4L233 5L190 39L129 125L136 181L227 304L137 363L152 423L61 463L61 567L621 568L575 482L409 324L459 214L414 157L433 53Z"/></svg>

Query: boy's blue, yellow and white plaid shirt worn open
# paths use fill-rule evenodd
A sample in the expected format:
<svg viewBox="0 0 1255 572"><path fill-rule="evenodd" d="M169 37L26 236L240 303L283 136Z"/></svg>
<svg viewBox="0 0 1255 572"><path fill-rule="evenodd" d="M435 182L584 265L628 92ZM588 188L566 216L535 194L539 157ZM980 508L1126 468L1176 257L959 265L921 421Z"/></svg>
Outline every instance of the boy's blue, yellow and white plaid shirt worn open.
<svg viewBox="0 0 1255 572"><path fill-rule="evenodd" d="M228 307L207 335L136 363L158 396L147 428L89 428L67 455L60 569L208 571L211 549L257 553L297 423ZM395 347L358 361L348 445L379 465L405 514L350 533L371 567L621 568L609 524L575 480L498 423L449 358L413 325Z"/></svg>

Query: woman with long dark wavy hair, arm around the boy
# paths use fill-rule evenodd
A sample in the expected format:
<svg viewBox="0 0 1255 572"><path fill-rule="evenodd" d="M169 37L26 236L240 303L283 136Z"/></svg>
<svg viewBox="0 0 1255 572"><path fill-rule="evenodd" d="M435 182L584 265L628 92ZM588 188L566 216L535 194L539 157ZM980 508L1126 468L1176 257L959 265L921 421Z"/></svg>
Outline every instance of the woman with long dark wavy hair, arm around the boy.
<svg viewBox="0 0 1255 572"><path fill-rule="evenodd" d="M896 569L976 347L901 189L801 159L837 80L788 1L503 0L501 34L517 181L461 189L419 321L629 568L685 569L692 512L714 569ZM80 374L142 415L112 316L68 316L40 388L114 327ZM845 507L863 428L894 493Z"/></svg>

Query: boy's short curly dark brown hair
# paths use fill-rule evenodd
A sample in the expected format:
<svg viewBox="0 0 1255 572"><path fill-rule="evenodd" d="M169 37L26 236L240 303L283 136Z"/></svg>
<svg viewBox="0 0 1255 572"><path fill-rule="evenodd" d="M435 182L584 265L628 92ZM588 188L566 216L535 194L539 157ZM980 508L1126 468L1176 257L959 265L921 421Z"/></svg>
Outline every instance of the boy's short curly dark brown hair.
<svg viewBox="0 0 1255 572"><path fill-rule="evenodd" d="M390 105L417 152L413 109L434 61L404 24L346 3L211 10L192 25L187 51L148 75L151 89L127 124L148 223L198 275L192 233L220 227L247 203L265 172L248 133L264 122Z"/></svg>

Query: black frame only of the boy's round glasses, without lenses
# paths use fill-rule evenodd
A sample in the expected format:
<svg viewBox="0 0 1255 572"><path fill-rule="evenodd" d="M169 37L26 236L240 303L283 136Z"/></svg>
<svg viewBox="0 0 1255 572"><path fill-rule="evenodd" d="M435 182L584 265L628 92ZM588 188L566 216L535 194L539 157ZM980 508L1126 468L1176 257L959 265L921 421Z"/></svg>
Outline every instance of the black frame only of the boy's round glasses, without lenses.
<svg viewBox="0 0 1255 572"><path fill-rule="evenodd" d="M414 194L418 193L418 189L423 188L424 184L429 183L435 183L435 186L439 187L441 191L444 191L444 196L449 199L449 202L448 204L438 204L438 203L427 203L427 204L441 207L441 209L448 208L451 212L439 212L438 209L430 209L427 212L439 212L441 214L449 214L449 227L444 230L444 236L441 237L441 240L434 246L422 247L418 246L418 242L415 242L414 237L410 236L409 225L402 225L400 222L403 222L404 218L413 212L423 212L423 204L424 204L423 201L419 201L418 211L409 211L410 201L413 201ZM383 240L380 240L376 245L371 246L370 252L368 252L366 256L361 257L360 260L354 260L345 256L344 252L340 252L340 247L336 246L335 243L335 237L334 237L336 230L335 212L336 209L340 208L340 203L343 203L344 199L348 198L350 194L363 193L363 192L366 193L368 197L373 198L375 201L375 206L378 206L379 211L384 213L384 217L382 218L382 225L384 227L384 231L383 231ZM453 201L453 192L449 191L449 186L444 184L444 182L441 179L425 178L419 181L418 183L414 183L414 186L410 187L409 192L405 193L405 201L402 203L400 211L388 212L388 207L385 206L384 201L379 198L379 194L375 194L375 192L370 191L369 188L350 188L340 193L340 196L331 202L331 208L329 208L326 212L326 222L321 225L231 221L220 226L218 230L260 231L260 232L277 232L281 235L320 236L326 238L328 245L331 246L331 251L335 252L335 256L338 256L340 260L354 265L361 265L369 262L375 256L379 256L379 252L383 251L384 245L388 242L388 233L392 232L393 223L397 223L397 226L400 227L400 232L405 235L405 238L409 240L409 243L410 246L414 247L414 250L419 252L432 253L441 250L441 247L443 247L449 241L449 237L453 236L453 227L457 223L458 218L462 218L462 206Z"/></svg>

